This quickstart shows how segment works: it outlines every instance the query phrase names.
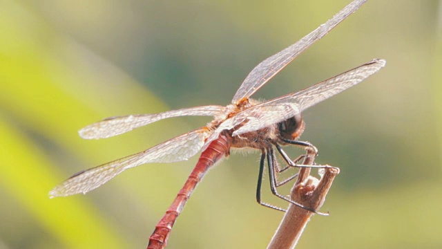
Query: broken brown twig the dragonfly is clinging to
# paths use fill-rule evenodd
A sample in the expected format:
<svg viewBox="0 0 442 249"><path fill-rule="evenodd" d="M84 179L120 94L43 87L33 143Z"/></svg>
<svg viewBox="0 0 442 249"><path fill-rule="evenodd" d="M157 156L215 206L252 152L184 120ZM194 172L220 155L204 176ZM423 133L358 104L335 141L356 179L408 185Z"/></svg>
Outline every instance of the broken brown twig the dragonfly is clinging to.
<svg viewBox="0 0 442 249"><path fill-rule="evenodd" d="M316 151L307 150L303 164L312 165L315 156ZM291 199L306 208L318 210L323 205L335 176L339 174L339 169L326 165L325 174L320 180L310 176L310 171L309 167L300 169L298 180L291 190ZM304 208L290 204L267 249L295 248L302 231L313 214Z"/></svg>

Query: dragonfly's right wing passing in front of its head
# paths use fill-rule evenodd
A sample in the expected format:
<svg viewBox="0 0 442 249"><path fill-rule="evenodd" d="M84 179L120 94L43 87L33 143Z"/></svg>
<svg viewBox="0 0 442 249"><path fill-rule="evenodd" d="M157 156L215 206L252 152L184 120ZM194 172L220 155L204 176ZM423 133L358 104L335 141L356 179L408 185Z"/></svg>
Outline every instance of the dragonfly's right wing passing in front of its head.
<svg viewBox="0 0 442 249"><path fill-rule="evenodd" d="M336 75L307 89L284 95L256 106L241 111L232 120L226 120L233 124L244 122L238 130L234 131L232 136L238 136L242 133L256 131L271 124L276 124L291 118L305 109L318 104L327 98L332 97L350 87L365 80L373 73L379 71L385 66L384 59L373 59L371 62L353 68L345 73ZM218 127L219 128L219 127ZM215 133L219 133L216 129Z"/></svg>

